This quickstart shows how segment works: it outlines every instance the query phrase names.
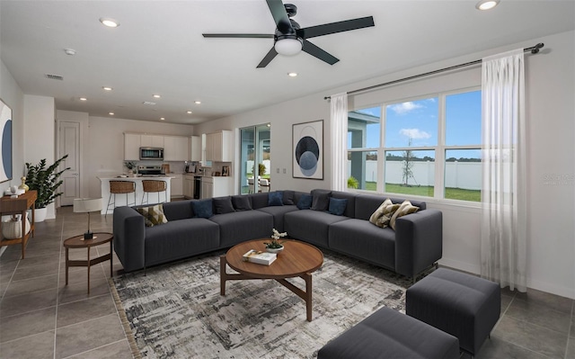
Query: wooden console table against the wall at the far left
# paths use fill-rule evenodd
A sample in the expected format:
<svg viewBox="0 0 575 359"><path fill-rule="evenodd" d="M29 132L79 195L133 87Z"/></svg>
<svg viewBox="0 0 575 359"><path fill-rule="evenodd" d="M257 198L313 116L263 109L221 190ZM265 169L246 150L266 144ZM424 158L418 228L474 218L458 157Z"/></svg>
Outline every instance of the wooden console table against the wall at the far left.
<svg viewBox="0 0 575 359"><path fill-rule="evenodd" d="M34 190L28 191L18 196L18 198L10 198L4 196L0 198L0 218L4 215L22 214L22 233L25 233L21 238L4 239L2 235L2 222L0 221L0 247L22 244L22 259L26 253L26 244L30 234L34 237L34 202L38 198L38 193ZM32 218L30 222L30 232L26 233L26 211L32 210Z"/></svg>

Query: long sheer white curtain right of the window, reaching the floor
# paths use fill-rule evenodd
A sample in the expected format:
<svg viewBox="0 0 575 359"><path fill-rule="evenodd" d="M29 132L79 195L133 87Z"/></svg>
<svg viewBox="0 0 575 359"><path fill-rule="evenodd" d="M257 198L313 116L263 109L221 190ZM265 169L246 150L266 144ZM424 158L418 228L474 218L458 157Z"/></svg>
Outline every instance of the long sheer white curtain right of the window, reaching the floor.
<svg viewBox="0 0 575 359"><path fill-rule="evenodd" d="M482 277L526 292L523 49L482 59Z"/></svg>

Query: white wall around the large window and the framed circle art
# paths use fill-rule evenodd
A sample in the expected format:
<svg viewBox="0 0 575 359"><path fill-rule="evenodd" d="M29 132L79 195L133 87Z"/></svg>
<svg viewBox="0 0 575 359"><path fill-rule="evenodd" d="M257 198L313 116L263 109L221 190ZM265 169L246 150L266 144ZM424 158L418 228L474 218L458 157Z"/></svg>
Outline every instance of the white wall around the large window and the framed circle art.
<svg viewBox="0 0 575 359"><path fill-rule="evenodd" d="M526 119L529 141L527 284L531 288L575 298L574 185L572 181L565 184L549 184L544 181L549 175L575 174L574 31L452 58L388 76L375 76L345 87L326 89L323 93L197 125L195 134L234 130L270 122L270 173L274 189L309 191L314 188L330 188L330 104L323 100L323 96L473 61L509 49L531 47L537 42L545 44L541 53L535 56L526 54ZM337 76L336 69L334 76ZM477 85L481 85L481 68L466 68L350 96L349 109ZM324 120L324 179L294 179L291 176L292 125L314 120ZM277 174L277 168L287 168L287 174L283 175L282 170ZM481 264L478 206L435 199L427 199L427 202L429 208L437 208L444 214L444 252L441 263L478 274Z"/></svg>

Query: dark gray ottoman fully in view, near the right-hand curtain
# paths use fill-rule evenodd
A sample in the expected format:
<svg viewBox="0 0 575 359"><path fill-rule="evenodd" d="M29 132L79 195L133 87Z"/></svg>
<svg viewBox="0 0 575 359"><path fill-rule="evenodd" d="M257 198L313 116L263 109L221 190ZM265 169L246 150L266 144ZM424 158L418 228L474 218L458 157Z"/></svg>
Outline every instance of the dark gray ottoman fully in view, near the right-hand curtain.
<svg viewBox="0 0 575 359"><path fill-rule="evenodd" d="M485 279L439 268L405 294L405 312L459 339L475 355L500 318L500 286Z"/></svg>

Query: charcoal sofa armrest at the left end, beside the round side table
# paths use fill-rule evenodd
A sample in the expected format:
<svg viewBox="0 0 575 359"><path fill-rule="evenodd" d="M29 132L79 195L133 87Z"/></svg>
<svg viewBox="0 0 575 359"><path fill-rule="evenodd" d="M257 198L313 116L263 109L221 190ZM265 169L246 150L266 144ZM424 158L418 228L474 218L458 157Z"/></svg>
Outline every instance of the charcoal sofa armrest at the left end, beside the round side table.
<svg viewBox="0 0 575 359"><path fill-rule="evenodd" d="M145 267L146 225L144 217L131 207L114 209L114 251L126 272Z"/></svg>

